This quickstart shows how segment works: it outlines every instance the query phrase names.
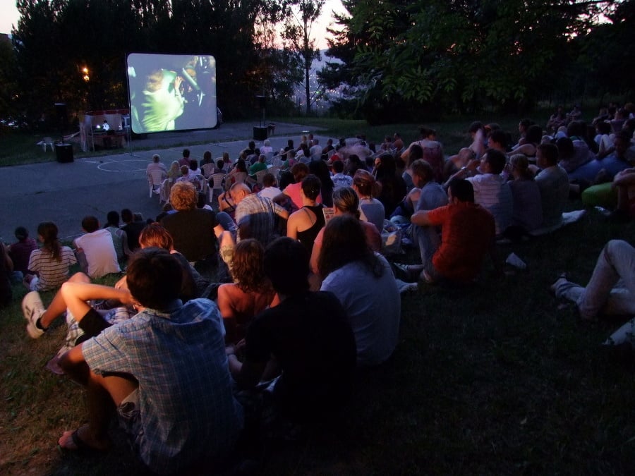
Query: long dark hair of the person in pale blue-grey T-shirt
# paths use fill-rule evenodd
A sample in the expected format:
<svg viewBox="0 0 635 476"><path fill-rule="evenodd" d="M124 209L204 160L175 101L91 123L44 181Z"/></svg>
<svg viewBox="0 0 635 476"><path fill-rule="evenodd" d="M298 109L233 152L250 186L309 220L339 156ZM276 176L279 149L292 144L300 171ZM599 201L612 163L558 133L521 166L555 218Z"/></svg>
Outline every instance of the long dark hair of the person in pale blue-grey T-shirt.
<svg viewBox="0 0 635 476"><path fill-rule="evenodd" d="M370 250L359 220L350 215L334 216L324 230L317 269L325 279L336 269L356 261L363 263L377 277L383 274L382 264Z"/></svg>

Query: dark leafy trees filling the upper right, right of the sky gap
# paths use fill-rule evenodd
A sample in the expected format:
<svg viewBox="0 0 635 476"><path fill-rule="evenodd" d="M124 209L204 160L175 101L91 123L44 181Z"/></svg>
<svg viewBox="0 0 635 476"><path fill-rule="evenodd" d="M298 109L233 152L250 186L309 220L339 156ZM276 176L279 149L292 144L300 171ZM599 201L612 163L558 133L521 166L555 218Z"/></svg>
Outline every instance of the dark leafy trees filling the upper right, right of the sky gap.
<svg viewBox="0 0 635 476"><path fill-rule="evenodd" d="M629 96L635 1L343 0L320 73L372 121ZM600 20L600 21L598 21Z"/></svg>

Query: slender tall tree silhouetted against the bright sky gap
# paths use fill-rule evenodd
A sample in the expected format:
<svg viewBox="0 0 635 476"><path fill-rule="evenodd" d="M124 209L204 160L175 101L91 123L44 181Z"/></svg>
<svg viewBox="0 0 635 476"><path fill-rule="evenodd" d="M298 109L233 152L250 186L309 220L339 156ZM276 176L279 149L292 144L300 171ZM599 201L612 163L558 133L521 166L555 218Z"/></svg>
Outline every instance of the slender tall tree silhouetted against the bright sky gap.
<svg viewBox="0 0 635 476"><path fill-rule="evenodd" d="M306 94L306 114L311 113L311 104L317 99L319 91L311 92L310 70L315 59L320 60L320 50L315 47L315 38L311 36L313 23L320 18L325 0L300 0L291 7L284 25L282 37L291 43L291 51L301 57L304 70L304 89Z"/></svg>

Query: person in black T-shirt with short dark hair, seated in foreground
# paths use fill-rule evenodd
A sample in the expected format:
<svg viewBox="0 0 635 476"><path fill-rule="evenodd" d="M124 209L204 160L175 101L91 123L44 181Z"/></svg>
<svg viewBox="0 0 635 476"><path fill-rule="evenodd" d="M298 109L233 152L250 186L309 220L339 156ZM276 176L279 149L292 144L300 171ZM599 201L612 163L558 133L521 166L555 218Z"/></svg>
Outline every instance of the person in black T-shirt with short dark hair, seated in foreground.
<svg viewBox="0 0 635 476"><path fill-rule="evenodd" d="M353 331L332 293L308 291L308 271L301 243L287 237L271 243L265 250L265 274L280 304L255 317L243 345L227 348L229 370L239 389L255 389L261 380L277 376L270 385L278 417L274 422L311 425L333 420L351 396Z"/></svg>

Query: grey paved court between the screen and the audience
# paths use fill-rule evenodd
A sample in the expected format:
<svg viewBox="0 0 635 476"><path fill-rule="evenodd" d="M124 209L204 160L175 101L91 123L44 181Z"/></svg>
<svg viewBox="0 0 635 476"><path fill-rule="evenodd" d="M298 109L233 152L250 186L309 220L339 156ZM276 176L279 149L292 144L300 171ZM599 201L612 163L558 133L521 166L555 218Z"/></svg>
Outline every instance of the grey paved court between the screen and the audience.
<svg viewBox="0 0 635 476"><path fill-rule="evenodd" d="M50 162L1 167L4 185L0 190L0 237L12 243L13 230L19 225L26 226L35 237L37 224L50 220L59 227L61 238L71 238L81 233L83 216L95 215L103 224L110 210L121 212L122 208L141 212L144 218L157 216L159 198L149 197L145 178L145 167L153 154L160 154L167 166L181 157L184 147L191 150L193 159L200 160L206 150L214 158L229 152L231 159L236 159L252 138L253 126L231 123L216 130L148 135L112 155L75 159L70 164L60 164L49 152ZM270 141L274 149L284 147L287 139L294 139L298 145L300 136L308 130L301 124L277 123ZM320 143L326 143L327 138L318 135L318 130L311 132ZM204 143L192 145L196 142Z"/></svg>

